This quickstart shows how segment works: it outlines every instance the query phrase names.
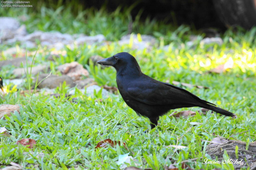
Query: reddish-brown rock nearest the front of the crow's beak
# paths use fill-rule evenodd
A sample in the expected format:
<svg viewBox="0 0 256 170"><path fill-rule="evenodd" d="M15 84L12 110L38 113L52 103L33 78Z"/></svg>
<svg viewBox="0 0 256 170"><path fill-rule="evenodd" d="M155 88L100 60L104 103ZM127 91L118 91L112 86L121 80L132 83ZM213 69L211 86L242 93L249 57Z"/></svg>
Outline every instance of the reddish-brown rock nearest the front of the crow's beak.
<svg viewBox="0 0 256 170"><path fill-rule="evenodd" d="M80 80L81 76L88 76L89 72L83 68L81 64L76 61L71 63L65 63L58 66L58 71L62 74L67 75L72 78L72 80Z"/></svg>

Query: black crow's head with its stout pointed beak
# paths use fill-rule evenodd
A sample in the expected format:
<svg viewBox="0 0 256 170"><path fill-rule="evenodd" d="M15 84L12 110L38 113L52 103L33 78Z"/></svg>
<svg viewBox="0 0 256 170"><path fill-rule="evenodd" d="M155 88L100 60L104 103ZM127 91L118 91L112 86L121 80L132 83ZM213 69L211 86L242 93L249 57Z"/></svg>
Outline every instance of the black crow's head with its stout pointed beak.
<svg viewBox="0 0 256 170"><path fill-rule="evenodd" d="M116 71L138 71L141 73L140 66L136 59L126 52L115 54L114 56L102 59L97 63L106 66L113 66Z"/></svg>

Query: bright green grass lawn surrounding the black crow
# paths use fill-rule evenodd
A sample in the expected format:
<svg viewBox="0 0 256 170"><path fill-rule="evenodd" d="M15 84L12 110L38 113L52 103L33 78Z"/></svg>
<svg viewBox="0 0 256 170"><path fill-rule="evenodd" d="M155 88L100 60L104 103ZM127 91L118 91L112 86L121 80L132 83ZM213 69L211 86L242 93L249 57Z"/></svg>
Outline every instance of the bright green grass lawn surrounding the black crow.
<svg viewBox="0 0 256 170"><path fill-rule="evenodd" d="M79 18L79 16L74 17L68 14L70 9L60 9L61 15L55 16L54 13L58 13L58 10L54 11L43 7L41 13L33 14L26 13L25 9L9 9L5 15L17 16L19 10L24 10L23 12L28 15L29 19L24 23L30 32L57 30L71 34L102 33L106 37L109 36L109 40L118 40L127 33L127 28L117 29L123 22L127 24L127 15L122 12L116 12L116 14L114 12L106 16L103 10L96 13L90 9L83 11ZM0 14L2 13L3 11L0 11ZM50 15L53 17L49 18ZM88 19L87 23L83 23L85 16ZM62 19L73 22L62 25L64 23ZM95 23L96 19L99 19L100 22ZM115 22L118 24L111 24ZM99 25L97 26L97 24ZM141 29L143 24L148 25L148 23L136 23L133 32L141 31L141 34L154 34L157 30L163 30L161 28L165 26L163 23L156 22L158 26L152 24L150 31L144 30L143 32ZM109 25L112 26L106 30L105 28L108 28ZM209 155L205 153L205 148L209 144L206 141L211 141L216 137L215 135L229 138L232 134L248 130L246 133L233 135L231 139L244 142L255 141L256 50L255 38L252 37L255 36L256 28L247 32L230 29L222 35L224 41L222 45L201 46L195 44L193 48L188 48L185 42L188 41L187 37L195 32L185 26L180 26L175 30L177 31L162 31L162 35L154 34L159 41L161 41L161 37L164 37L165 44L171 42L169 51L155 47L150 51L131 50L129 45L119 46L116 43L111 43L109 46L84 45L73 50L66 47L63 50L66 50L68 55L55 58L52 62L47 60L49 50L39 49L34 64L51 62L51 69L54 72L60 64L78 61L88 69L90 76L98 85L116 86L115 70L110 67L102 69L98 65L94 67L92 63L88 64L88 58L93 55L110 57L126 51L134 55L141 70L154 79L170 82L176 80L209 87L209 89L183 88L237 114L237 119L210 113L176 119L168 116L173 112L170 111L160 118L157 128L144 134L142 132L150 128L150 122L144 117L138 117L125 104L119 93L102 98L100 93L94 97L88 97L76 90L72 97L77 97L78 103L72 103L72 97L65 98L64 94L71 90L65 85L55 89L55 93L61 94L60 98L49 97L40 92L34 94L30 100L30 95L27 93L23 96L22 89L19 89L17 93L9 93L0 98L0 103L23 104L20 113L15 112L10 117L6 116L5 120L0 120L1 127L5 126L11 134L11 136L0 137L0 167L5 167L12 161L30 169L72 169L76 165L82 169L118 169L118 165L115 163L118 156L129 153L135 159L131 166L164 169L165 165L172 163L168 158L177 162L201 156L209 158ZM198 36L199 39L203 37L201 34ZM172 50L171 46L179 45L180 49ZM7 47L1 45L1 49L5 48ZM229 61L230 58L233 60L234 66L228 72L208 73L208 70ZM0 70L3 79L12 78L10 69L14 69L14 67L5 67ZM102 102L97 102L99 99L102 99ZM182 110L197 111L198 108L182 108L175 111ZM202 124L192 126L189 122ZM187 132L189 128L191 129ZM16 141L21 138L35 139L37 142L35 148L28 149L16 145ZM122 145L116 148L107 147L95 150L97 143L107 138L125 142L128 150ZM177 141L177 139L179 140ZM176 144L187 146L187 148L175 151L175 148L166 147ZM202 164L202 160L191 161L187 165L194 169L219 167ZM177 167L181 168L181 165L179 164ZM219 168L229 169L224 166Z"/></svg>

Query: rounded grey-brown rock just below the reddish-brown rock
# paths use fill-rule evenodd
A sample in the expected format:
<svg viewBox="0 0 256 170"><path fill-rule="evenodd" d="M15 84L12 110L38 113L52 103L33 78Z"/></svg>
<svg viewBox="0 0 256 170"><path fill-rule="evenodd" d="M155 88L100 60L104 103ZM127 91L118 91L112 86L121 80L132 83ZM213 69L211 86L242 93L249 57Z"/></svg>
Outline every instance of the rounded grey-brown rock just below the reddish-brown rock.
<svg viewBox="0 0 256 170"><path fill-rule="evenodd" d="M43 80L45 77L47 77L49 74L41 74L38 76L38 82ZM76 84L73 82L71 77L67 75L57 76L57 75L50 75L47 79L42 81L38 88L56 88L59 87L60 84L62 84L64 81L66 81L66 85L69 87L74 87Z"/></svg>

